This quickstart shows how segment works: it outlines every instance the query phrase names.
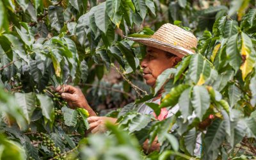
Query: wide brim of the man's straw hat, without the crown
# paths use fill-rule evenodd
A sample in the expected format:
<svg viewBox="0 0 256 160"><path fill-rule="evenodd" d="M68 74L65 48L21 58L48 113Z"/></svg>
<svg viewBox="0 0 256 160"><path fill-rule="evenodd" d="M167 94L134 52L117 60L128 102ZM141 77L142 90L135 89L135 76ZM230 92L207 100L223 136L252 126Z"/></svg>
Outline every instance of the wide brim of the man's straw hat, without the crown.
<svg viewBox="0 0 256 160"><path fill-rule="evenodd" d="M135 37L131 37L131 36L124 36L124 37L129 40L132 40L134 42L143 44L143 45L155 47L157 49L161 49L163 51L170 52L180 58L182 58L188 54L193 54L192 51L189 51L188 49L184 49L183 47L180 47L179 45L167 44L167 43L161 42L161 41L153 39L153 38L135 38Z"/></svg>

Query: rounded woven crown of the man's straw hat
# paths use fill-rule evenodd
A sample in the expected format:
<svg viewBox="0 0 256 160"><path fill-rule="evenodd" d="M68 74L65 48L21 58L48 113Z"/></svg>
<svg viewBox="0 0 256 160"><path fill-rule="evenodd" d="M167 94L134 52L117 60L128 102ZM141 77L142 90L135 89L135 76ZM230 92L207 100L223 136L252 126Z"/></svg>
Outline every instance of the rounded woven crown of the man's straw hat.
<svg viewBox="0 0 256 160"><path fill-rule="evenodd" d="M161 26L150 38L183 47L191 52L195 52L193 48L196 48L197 45L197 38L193 33L170 23Z"/></svg>

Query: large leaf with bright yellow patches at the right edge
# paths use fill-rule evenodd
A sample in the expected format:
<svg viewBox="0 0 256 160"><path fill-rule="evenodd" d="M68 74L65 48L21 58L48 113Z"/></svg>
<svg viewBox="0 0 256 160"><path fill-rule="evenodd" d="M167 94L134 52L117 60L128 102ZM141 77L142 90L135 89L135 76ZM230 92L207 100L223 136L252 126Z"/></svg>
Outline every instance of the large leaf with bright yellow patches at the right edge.
<svg viewBox="0 0 256 160"><path fill-rule="evenodd" d="M246 33L241 33L241 55L246 58L240 69L242 71L243 81L245 77L252 72L256 63L256 52L252 47L252 40Z"/></svg>

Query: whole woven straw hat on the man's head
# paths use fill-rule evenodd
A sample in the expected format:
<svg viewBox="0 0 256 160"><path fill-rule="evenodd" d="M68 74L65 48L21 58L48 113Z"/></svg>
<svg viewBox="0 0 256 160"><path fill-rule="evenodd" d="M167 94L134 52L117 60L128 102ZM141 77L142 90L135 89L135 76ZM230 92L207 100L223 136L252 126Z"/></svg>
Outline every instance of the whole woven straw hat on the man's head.
<svg viewBox="0 0 256 160"><path fill-rule="evenodd" d="M143 45L171 52L180 58L195 53L193 48L197 45L197 39L193 33L170 23L161 26L150 38L124 37Z"/></svg>

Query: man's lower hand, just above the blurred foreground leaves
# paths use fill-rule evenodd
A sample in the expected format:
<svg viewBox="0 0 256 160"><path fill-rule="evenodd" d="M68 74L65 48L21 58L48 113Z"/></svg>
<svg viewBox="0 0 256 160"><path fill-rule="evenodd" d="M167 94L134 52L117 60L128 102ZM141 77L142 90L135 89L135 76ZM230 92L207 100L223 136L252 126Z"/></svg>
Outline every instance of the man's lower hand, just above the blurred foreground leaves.
<svg viewBox="0 0 256 160"><path fill-rule="evenodd" d="M87 118L89 122L90 129L92 133L98 132L106 132L108 129L106 128L106 122L110 122L112 124L116 123L116 118L111 118L108 116L90 116Z"/></svg>

